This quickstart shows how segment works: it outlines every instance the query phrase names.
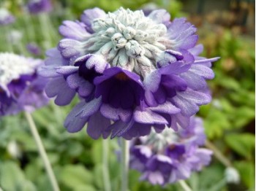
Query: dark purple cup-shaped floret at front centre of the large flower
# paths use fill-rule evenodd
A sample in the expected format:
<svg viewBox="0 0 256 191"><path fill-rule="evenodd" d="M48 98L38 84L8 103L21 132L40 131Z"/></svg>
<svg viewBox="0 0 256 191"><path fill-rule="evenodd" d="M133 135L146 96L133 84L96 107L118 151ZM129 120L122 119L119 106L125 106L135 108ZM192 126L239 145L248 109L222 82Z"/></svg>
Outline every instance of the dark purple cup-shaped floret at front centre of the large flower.
<svg viewBox="0 0 256 191"><path fill-rule="evenodd" d="M106 69L101 77L94 79L95 97L102 97L104 104L113 108L133 109L144 100L140 76L119 67Z"/></svg>

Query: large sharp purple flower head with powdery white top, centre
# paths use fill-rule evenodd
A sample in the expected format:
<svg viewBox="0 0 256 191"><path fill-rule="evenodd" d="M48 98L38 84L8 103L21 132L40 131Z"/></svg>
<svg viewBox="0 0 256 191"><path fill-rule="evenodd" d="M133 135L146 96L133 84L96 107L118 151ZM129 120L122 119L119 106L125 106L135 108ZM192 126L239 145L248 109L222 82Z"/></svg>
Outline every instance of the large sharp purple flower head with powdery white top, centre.
<svg viewBox="0 0 256 191"><path fill-rule="evenodd" d="M48 50L40 73L50 77L46 93L67 105L80 104L64 122L69 132L87 125L93 139L146 136L153 127L187 128L200 105L211 101L206 79L211 62L201 58L196 28L186 19L170 21L164 9L147 16L120 8L87 9L80 21L63 22L64 39Z"/></svg>

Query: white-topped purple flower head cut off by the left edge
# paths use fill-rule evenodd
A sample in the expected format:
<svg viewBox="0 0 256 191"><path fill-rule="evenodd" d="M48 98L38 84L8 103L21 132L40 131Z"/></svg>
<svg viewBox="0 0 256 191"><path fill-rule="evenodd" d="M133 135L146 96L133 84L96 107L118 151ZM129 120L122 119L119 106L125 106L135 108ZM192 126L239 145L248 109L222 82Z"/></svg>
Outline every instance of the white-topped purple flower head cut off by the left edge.
<svg viewBox="0 0 256 191"><path fill-rule="evenodd" d="M48 80L37 74L41 60L0 53L0 117L17 114L48 103L44 88Z"/></svg>

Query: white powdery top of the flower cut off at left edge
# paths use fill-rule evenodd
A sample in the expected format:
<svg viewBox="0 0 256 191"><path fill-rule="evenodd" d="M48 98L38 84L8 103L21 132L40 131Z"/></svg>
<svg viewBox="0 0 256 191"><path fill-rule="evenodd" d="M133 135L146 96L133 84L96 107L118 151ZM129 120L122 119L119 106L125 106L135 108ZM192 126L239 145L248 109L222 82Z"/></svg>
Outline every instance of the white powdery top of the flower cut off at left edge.
<svg viewBox="0 0 256 191"><path fill-rule="evenodd" d="M20 55L0 53L0 88L7 90L7 85L13 79L18 79L23 74L33 74L36 66L36 63L31 63Z"/></svg>

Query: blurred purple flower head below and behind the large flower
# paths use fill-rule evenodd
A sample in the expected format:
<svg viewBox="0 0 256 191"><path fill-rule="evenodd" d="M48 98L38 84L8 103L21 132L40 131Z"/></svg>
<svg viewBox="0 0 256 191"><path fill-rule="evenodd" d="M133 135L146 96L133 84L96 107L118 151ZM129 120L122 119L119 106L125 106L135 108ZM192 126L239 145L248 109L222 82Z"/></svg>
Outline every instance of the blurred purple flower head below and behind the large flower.
<svg viewBox="0 0 256 191"><path fill-rule="evenodd" d="M142 173L140 179L151 184L165 185L187 179L192 171L200 171L208 165L212 152L200 148L206 137L202 120L192 117L187 129L178 132L166 128L162 133L132 141L130 167Z"/></svg>

